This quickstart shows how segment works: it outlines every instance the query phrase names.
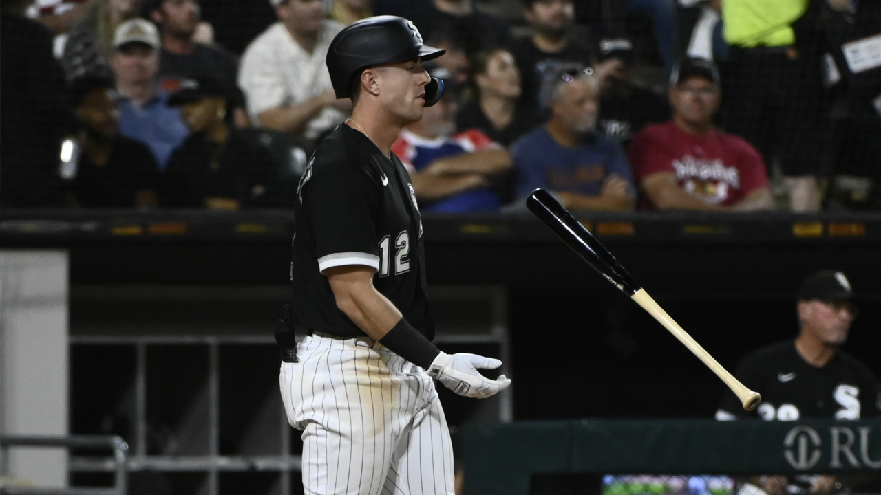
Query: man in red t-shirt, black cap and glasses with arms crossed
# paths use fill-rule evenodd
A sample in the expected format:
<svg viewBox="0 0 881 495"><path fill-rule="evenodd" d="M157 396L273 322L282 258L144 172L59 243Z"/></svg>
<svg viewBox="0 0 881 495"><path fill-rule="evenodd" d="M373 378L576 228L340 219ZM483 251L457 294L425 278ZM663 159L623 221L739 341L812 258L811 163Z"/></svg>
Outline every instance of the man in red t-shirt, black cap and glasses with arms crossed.
<svg viewBox="0 0 881 495"><path fill-rule="evenodd" d="M649 125L630 147L644 210L751 211L774 207L765 163L751 144L715 129L719 72L685 60L670 85L673 118Z"/></svg>

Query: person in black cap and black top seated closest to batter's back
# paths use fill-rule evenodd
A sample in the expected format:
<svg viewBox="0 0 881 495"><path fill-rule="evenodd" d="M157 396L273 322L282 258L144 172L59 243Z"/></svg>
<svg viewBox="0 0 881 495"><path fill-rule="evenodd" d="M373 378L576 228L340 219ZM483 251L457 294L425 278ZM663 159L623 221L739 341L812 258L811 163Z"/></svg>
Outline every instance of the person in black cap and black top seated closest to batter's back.
<svg viewBox="0 0 881 495"><path fill-rule="evenodd" d="M271 206L276 184L270 152L227 118L229 95L217 80L186 80L168 99L181 107L190 135L168 160L159 203L171 208L238 210Z"/></svg>

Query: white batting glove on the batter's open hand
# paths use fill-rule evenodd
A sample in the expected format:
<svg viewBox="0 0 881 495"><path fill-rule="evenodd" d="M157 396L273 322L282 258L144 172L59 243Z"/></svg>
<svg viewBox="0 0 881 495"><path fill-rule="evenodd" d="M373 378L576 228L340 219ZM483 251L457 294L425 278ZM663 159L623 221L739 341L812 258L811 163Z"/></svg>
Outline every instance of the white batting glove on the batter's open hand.
<svg viewBox="0 0 881 495"><path fill-rule="evenodd" d="M511 380L503 374L497 380L490 380L480 374L478 368L495 369L499 366L499 359L464 352L453 355L441 352L428 368L428 375L441 380L446 388L458 395L485 399L508 388Z"/></svg>

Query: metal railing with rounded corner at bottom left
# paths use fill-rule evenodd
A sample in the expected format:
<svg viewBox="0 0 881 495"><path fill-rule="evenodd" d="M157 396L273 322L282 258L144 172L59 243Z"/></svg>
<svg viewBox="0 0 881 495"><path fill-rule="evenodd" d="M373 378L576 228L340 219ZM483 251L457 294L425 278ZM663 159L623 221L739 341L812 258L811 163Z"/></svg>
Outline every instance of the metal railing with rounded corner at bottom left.
<svg viewBox="0 0 881 495"><path fill-rule="evenodd" d="M112 450L115 461L114 486L109 488L45 488L36 486L4 485L2 495L126 495L128 493L127 457L129 444L110 435L7 435L0 436L0 474L8 471L10 447L67 447Z"/></svg>

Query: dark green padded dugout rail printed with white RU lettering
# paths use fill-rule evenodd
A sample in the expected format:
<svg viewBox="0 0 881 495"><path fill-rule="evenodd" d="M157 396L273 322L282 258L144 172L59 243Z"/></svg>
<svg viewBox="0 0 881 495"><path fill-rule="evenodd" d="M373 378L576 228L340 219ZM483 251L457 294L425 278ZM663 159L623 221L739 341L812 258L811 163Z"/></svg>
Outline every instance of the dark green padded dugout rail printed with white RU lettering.
<svg viewBox="0 0 881 495"><path fill-rule="evenodd" d="M758 475L859 475L877 493L881 419L762 422L574 420L472 425L463 432L464 495L637 495L736 492ZM588 475L573 477L573 475ZM539 479L579 480L541 488ZM638 475L654 475L640 478ZM728 486L664 484L663 477L727 477ZM640 485L640 479L648 479ZM635 487L628 490L626 483ZM654 481L653 481L654 480ZM549 482L550 483L550 482ZM699 483L700 484L700 483ZM560 486L562 484L559 484Z"/></svg>

